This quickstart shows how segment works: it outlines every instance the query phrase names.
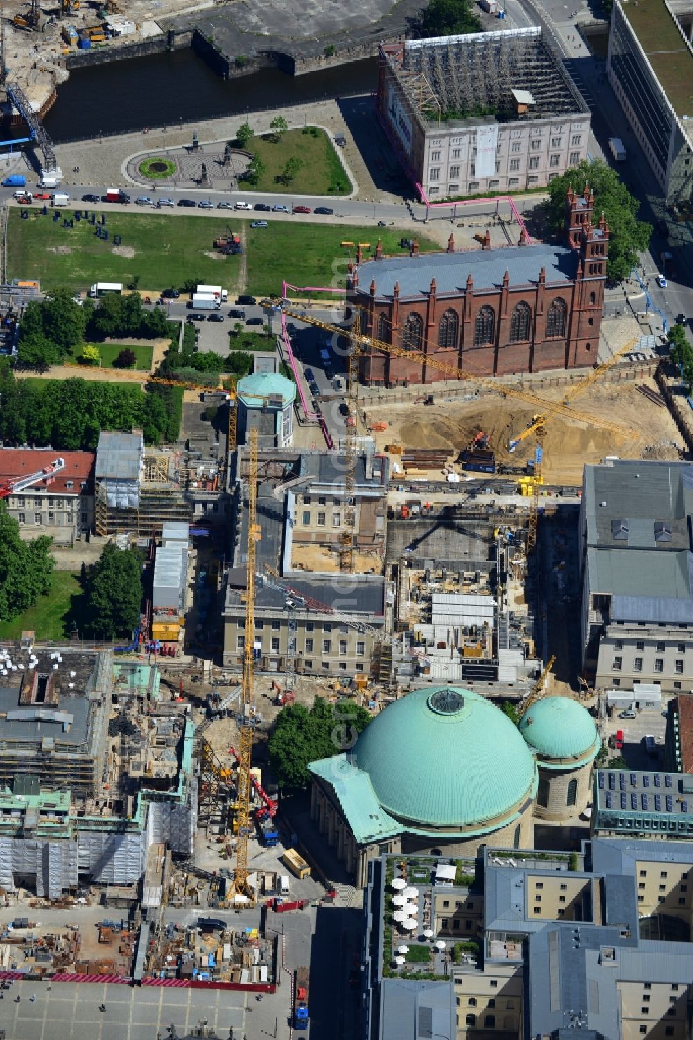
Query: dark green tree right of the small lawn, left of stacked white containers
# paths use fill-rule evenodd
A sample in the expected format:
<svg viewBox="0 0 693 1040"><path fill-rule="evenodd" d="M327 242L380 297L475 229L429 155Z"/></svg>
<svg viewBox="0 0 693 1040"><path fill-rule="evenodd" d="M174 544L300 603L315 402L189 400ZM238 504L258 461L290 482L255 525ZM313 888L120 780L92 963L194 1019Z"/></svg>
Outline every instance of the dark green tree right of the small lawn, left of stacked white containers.
<svg viewBox="0 0 693 1040"><path fill-rule="evenodd" d="M111 542L87 568L86 617L95 634L107 640L132 635L139 623L141 567L137 549L118 549Z"/></svg>

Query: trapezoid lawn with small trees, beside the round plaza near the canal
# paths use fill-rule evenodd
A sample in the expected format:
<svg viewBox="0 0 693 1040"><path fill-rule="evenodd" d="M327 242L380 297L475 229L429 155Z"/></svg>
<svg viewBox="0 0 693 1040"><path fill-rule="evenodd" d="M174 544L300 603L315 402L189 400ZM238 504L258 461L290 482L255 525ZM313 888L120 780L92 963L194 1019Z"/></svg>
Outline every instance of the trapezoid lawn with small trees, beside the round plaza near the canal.
<svg viewBox="0 0 693 1040"><path fill-rule="evenodd" d="M258 184L241 181L238 185L245 191L296 191L298 194L348 194L351 191L349 178L344 172L335 147L324 132L317 127L303 130L287 130L278 140L271 135L252 137L247 150L259 155L266 170ZM313 131L311 133L310 131ZM316 136L313 136L313 134ZM277 182L287 161L300 160L300 168L288 184Z"/></svg>

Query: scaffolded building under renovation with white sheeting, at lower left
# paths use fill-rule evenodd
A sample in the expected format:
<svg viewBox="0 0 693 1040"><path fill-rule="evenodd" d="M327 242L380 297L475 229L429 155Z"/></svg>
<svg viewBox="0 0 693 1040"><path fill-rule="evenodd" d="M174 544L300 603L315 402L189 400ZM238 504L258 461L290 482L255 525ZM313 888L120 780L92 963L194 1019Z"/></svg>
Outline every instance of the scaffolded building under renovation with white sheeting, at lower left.
<svg viewBox="0 0 693 1040"><path fill-rule="evenodd" d="M0 650L0 886L59 899L138 882L153 843L189 857L193 727L157 710L155 670L124 662L114 684L109 651L23 642Z"/></svg>

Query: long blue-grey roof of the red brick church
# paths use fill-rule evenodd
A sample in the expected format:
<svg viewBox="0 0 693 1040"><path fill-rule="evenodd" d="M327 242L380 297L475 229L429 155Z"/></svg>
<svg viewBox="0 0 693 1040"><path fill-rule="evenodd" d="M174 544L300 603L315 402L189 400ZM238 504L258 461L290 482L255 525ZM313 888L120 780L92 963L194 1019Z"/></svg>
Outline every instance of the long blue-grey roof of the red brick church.
<svg viewBox="0 0 693 1040"><path fill-rule="evenodd" d="M392 298L399 283L400 298L426 295L432 279L438 296L459 295L467 290L471 275L474 291L499 290L508 271L510 285L538 283L543 267L547 282L568 282L575 278L578 253L565 245L538 242L535 245L460 251L458 253L420 253L418 256L383 257L366 260L358 266L358 292L368 294L375 282L375 295Z"/></svg>

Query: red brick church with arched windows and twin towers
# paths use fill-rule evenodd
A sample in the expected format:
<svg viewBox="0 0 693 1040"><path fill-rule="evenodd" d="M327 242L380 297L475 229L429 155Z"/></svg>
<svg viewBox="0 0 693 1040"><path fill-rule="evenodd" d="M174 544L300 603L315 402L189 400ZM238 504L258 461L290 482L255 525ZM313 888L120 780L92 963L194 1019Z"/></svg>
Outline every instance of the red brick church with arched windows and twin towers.
<svg viewBox="0 0 693 1040"><path fill-rule="evenodd" d="M479 375L592 366L597 359L609 226L592 222L594 197L568 190L565 244L491 248L385 257L350 266L347 304L362 331L403 350ZM361 358L369 386L454 379L425 361L378 352Z"/></svg>

